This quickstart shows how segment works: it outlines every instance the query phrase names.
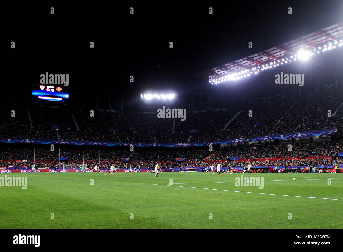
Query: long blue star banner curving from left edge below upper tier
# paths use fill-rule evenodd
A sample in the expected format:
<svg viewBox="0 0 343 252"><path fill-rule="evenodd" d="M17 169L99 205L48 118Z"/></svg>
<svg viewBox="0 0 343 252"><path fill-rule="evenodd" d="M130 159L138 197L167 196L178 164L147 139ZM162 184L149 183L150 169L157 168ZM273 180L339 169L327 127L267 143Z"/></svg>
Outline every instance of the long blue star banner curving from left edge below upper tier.
<svg viewBox="0 0 343 252"><path fill-rule="evenodd" d="M96 146L133 146L137 147L195 147L220 144L233 144L247 142L246 137L237 139L206 141L206 142L188 142L188 143L131 143L131 142L103 142L103 141L69 141L69 140L47 140L47 139L10 139L0 138L0 143L27 143L27 144L59 144L59 145L96 145Z"/></svg>

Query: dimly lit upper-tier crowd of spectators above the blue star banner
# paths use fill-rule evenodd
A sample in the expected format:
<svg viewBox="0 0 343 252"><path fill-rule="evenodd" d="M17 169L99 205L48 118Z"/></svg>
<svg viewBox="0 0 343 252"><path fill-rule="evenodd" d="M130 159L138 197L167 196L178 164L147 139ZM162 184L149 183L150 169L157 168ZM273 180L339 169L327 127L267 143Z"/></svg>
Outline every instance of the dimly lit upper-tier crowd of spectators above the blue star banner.
<svg viewBox="0 0 343 252"><path fill-rule="evenodd" d="M157 118L156 112L106 111L61 105L7 105L0 108L0 137L179 143L342 129L342 97L342 91L335 90L320 95L309 93L303 98L250 103L243 109L234 107L218 111L186 112L185 121L175 119L174 133L174 119ZM332 116L328 116L328 110ZM225 127L238 111L241 111L239 115Z"/></svg>

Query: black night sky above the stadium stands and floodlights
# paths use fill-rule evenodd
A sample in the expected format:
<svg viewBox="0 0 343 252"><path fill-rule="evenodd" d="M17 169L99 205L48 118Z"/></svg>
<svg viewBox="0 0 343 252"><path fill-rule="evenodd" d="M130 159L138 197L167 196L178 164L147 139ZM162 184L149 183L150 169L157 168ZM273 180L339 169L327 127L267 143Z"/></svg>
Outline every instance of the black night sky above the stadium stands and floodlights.
<svg viewBox="0 0 343 252"><path fill-rule="evenodd" d="M235 92L224 86L228 83L211 88L192 75L343 21L343 1L235 3L8 5L1 102L31 102L32 83L49 72L69 74L71 106L82 104L84 94L112 92L123 94L125 110L137 110L140 94L147 91L175 93L180 104L187 104L191 93L210 92L213 107L239 105ZM335 66L341 56L335 56ZM259 78L267 77L262 74Z"/></svg>

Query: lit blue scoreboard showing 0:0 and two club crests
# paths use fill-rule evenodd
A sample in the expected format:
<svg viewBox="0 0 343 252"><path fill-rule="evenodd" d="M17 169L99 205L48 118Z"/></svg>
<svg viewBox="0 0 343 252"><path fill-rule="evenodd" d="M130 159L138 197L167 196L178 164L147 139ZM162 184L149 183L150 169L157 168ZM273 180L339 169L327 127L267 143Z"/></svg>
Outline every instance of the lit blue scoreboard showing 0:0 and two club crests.
<svg viewBox="0 0 343 252"><path fill-rule="evenodd" d="M35 101L65 103L69 99L69 90L63 84L33 84L31 96Z"/></svg>

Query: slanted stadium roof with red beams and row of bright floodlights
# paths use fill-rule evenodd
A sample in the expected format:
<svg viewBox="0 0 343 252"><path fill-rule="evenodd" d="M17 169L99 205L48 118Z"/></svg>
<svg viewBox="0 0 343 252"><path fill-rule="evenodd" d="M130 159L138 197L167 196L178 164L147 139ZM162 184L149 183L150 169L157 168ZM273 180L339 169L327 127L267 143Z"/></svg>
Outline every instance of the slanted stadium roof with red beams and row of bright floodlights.
<svg viewBox="0 0 343 252"><path fill-rule="evenodd" d="M208 80L212 85L231 80L236 81L297 59L306 59L338 47L342 49L342 38L343 22L193 76ZM213 76L212 81L210 76Z"/></svg>

